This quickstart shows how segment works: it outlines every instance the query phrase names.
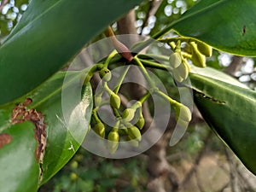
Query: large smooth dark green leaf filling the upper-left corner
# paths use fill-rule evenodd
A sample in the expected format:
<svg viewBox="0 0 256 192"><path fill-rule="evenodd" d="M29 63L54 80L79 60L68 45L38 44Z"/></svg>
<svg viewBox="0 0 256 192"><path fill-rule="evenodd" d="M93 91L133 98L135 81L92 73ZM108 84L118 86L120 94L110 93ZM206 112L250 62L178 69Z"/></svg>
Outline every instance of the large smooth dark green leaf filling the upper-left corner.
<svg viewBox="0 0 256 192"><path fill-rule="evenodd" d="M142 0L33 0L0 48L0 105L43 83Z"/></svg>

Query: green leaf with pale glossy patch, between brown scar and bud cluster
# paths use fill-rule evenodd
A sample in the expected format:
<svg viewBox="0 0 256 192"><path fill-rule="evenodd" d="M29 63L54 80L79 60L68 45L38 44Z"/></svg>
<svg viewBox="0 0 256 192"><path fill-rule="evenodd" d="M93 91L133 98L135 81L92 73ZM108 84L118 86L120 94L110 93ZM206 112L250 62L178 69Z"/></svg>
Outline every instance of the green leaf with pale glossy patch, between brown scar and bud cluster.
<svg viewBox="0 0 256 192"><path fill-rule="evenodd" d="M92 90L90 84L82 87L80 81L87 70L57 73L31 96L35 102L34 106L45 114L47 125L48 147L44 156L42 183L67 164L89 130ZM65 84L63 84L64 78L66 78ZM61 87L62 84L64 88ZM63 94L66 97L63 97ZM82 98L81 94L83 94ZM78 96L79 99L74 99Z"/></svg>

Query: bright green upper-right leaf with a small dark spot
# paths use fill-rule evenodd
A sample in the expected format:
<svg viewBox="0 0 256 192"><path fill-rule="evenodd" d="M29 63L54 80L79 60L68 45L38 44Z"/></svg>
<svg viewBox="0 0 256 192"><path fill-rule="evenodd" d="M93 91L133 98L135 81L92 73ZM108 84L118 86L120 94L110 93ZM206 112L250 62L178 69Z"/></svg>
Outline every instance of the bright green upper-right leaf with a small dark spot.
<svg viewBox="0 0 256 192"><path fill-rule="evenodd" d="M172 24L179 34L197 38L231 54L256 56L256 2L201 0Z"/></svg>

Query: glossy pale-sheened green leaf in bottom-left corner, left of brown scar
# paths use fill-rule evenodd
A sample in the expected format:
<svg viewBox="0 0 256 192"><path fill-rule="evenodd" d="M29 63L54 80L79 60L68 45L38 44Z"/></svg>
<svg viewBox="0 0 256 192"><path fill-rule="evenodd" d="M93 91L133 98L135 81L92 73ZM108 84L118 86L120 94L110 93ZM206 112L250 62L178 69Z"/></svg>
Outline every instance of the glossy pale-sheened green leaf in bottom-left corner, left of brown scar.
<svg viewBox="0 0 256 192"><path fill-rule="evenodd" d="M1 191L37 191L39 165L35 150L38 143L34 138L34 127L31 122L24 122L9 125L8 129L1 130L2 136L4 133L11 138L9 143L0 148ZM3 137L0 137L0 141L3 140Z"/></svg>

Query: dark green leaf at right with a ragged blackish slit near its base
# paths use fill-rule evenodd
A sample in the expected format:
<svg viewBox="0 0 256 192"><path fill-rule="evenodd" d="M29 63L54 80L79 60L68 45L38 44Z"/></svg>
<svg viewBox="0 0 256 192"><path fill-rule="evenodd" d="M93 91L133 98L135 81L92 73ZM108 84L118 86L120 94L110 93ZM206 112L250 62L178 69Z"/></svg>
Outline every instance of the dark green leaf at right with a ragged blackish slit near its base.
<svg viewBox="0 0 256 192"><path fill-rule="evenodd" d="M234 79L219 80L227 75L218 71L212 76L190 73L195 104L212 130L256 174L256 91L234 85Z"/></svg>

